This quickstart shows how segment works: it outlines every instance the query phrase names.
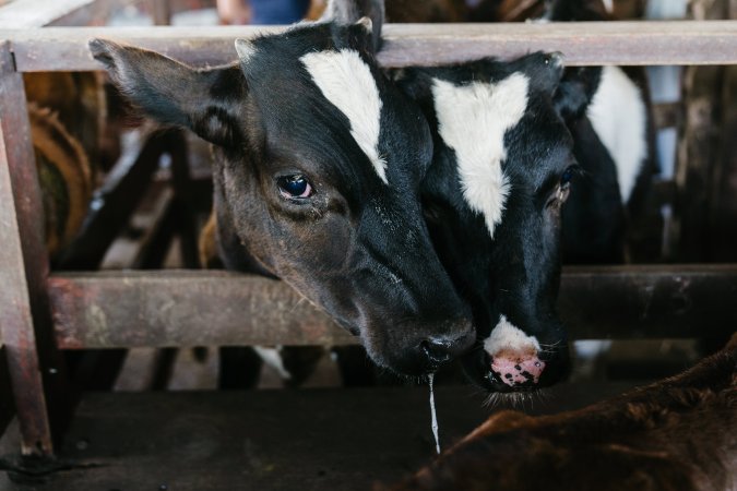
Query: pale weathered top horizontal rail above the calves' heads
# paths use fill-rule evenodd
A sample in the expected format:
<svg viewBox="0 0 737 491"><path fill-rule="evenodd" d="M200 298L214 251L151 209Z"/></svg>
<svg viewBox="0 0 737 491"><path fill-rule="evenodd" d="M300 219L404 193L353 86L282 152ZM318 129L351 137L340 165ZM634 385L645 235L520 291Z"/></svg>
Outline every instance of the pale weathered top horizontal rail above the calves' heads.
<svg viewBox="0 0 737 491"><path fill-rule="evenodd" d="M0 29L19 71L99 70L87 50L105 37L204 67L235 60L233 41L284 26L44 27ZM486 56L561 51L581 64L737 64L737 21L641 21L549 24L387 24L384 67L438 64Z"/></svg>

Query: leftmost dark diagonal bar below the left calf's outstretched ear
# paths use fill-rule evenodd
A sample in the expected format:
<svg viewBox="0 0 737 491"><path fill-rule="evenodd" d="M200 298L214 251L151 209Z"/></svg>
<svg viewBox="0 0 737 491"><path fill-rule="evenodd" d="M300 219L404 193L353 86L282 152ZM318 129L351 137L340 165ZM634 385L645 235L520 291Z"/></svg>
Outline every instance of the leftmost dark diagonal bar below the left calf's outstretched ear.
<svg viewBox="0 0 737 491"><path fill-rule="evenodd" d="M178 132L152 134L141 151L124 155L107 182L93 199L92 212L85 219L79 237L70 244L57 267L63 270L95 270L110 243L128 224L158 168L159 157L176 145ZM181 145L179 143L179 145Z"/></svg>

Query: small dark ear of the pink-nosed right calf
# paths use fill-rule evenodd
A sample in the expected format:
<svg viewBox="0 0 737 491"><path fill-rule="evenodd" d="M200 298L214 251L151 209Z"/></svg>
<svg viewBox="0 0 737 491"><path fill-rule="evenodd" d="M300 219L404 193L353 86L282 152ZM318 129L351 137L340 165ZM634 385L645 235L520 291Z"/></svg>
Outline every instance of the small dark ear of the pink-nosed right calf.
<svg viewBox="0 0 737 491"><path fill-rule="evenodd" d="M554 95L554 104L558 113L566 120L583 115L598 88L601 79L601 67L566 69Z"/></svg>

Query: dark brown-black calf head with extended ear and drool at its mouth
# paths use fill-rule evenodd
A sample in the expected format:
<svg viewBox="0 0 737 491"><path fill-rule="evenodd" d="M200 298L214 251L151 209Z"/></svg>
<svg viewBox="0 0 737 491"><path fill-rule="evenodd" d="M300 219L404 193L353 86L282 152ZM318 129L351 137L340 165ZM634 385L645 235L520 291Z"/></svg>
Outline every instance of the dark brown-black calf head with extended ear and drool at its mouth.
<svg viewBox="0 0 737 491"><path fill-rule="evenodd" d="M419 374L468 348L474 330L423 219L427 122L378 70L375 41L367 17L299 24L237 40L239 63L209 70L91 48L143 110L214 144L228 268L284 279L375 361Z"/></svg>

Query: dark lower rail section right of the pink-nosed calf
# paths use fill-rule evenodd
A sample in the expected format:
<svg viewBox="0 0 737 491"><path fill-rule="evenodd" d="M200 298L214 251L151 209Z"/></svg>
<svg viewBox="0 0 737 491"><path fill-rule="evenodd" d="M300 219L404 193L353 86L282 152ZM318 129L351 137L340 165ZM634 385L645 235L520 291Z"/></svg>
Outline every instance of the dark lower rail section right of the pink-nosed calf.
<svg viewBox="0 0 737 491"><path fill-rule="evenodd" d="M726 339L736 302L735 264L571 267L558 309L576 339Z"/></svg>

